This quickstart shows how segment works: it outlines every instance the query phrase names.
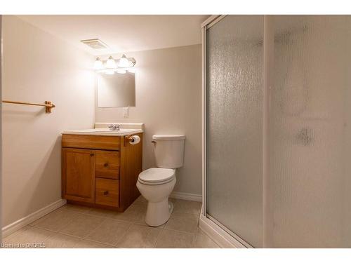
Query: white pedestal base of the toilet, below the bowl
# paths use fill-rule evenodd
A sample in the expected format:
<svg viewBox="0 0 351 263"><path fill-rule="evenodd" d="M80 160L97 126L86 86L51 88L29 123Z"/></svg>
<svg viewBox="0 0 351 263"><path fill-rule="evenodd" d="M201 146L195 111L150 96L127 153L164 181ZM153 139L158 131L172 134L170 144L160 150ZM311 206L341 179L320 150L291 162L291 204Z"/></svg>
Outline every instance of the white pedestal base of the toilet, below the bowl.
<svg viewBox="0 0 351 263"><path fill-rule="evenodd" d="M168 221L173 212L173 203L168 198L158 203L147 203L145 222L150 227L158 227Z"/></svg>

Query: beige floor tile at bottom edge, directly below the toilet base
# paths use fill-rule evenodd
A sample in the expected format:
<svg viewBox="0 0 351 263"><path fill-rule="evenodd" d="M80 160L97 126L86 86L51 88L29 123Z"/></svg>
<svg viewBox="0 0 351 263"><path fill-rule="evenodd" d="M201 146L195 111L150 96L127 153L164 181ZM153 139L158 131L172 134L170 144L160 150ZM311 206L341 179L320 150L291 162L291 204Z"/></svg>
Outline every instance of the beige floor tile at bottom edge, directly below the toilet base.
<svg viewBox="0 0 351 263"><path fill-rule="evenodd" d="M163 229L155 248L192 248L193 243L194 234Z"/></svg>

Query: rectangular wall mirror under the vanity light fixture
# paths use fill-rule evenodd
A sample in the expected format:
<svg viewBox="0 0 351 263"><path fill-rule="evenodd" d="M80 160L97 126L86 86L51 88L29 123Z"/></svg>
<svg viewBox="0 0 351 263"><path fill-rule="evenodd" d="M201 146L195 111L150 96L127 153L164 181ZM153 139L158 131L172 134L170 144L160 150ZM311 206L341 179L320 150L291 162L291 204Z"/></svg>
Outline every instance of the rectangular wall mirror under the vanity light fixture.
<svg viewBox="0 0 351 263"><path fill-rule="evenodd" d="M98 73L98 107L135 107L135 73Z"/></svg>

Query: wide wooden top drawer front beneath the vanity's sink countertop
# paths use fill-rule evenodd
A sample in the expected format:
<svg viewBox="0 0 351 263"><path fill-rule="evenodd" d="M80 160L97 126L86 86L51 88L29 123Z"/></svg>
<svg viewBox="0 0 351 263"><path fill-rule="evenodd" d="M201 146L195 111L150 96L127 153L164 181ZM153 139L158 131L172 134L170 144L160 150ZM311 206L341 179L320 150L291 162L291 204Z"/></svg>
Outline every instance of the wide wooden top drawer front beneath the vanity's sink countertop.
<svg viewBox="0 0 351 263"><path fill-rule="evenodd" d="M117 136L98 135L62 135L62 147L119 150L121 138Z"/></svg>

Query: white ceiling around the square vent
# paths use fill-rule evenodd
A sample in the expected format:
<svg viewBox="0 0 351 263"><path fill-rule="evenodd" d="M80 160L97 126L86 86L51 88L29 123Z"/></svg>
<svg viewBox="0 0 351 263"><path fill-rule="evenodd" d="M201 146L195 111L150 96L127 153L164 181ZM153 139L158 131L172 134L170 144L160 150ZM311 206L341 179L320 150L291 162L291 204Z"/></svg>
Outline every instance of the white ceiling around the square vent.
<svg viewBox="0 0 351 263"><path fill-rule="evenodd" d="M170 48L201 43L201 22L208 15L18 15L92 55ZM82 39L109 46L94 50Z"/></svg>

